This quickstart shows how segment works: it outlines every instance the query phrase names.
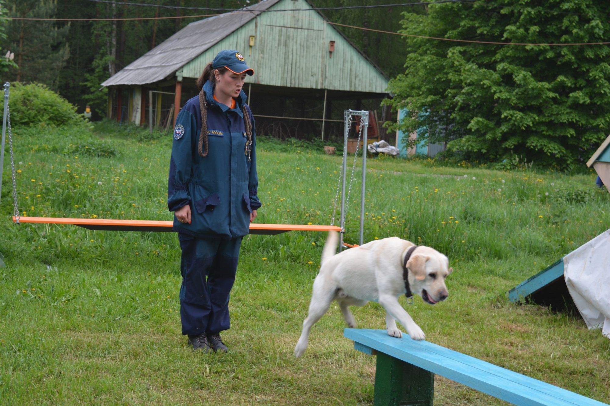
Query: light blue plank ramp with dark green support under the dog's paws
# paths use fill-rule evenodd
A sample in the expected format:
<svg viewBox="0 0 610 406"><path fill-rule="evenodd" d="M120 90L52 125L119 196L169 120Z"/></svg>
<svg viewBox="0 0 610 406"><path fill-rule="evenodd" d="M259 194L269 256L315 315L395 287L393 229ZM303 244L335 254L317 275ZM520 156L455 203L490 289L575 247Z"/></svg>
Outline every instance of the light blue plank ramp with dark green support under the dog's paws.
<svg viewBox="0 0 610 406"><path fill-rule="evenodd" d="M345 329L354 349L377 355L375 406L432 406L434 374L517 406L608 406L428 341L386 330Z"/></svg>

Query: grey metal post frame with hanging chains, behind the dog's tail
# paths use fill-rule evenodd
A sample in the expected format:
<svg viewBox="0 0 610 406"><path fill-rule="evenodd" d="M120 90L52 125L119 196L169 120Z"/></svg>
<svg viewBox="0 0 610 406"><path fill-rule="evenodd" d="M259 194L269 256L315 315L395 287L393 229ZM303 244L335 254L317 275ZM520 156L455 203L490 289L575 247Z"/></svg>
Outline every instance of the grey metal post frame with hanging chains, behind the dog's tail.
<svg viewBox="0 0 610 406"><path fill-rule="evenodd" d="M339 236L339 252L343 251L343 233L345 233L345 216L346 216L346 201L347 196L345 196L345 182L346 182L346 172L347 172L347 140L350 136L349 132L349 121L351 116L358 116L362 121L362 183L361 183L361 205L360 205L360 230L359 230L359 245L362 245L364 242L364 204L366 198L366 176L367 176L367 129L368 129L368 111L367 110L345 110L343 113L343 163L341 168L341 176L342 176L342 185L341 185L341 218L340 218L340 227L341 233ZM356 123L356 121L353 121ZM357 121L360 123L360 121ZM355 162L354 162L355 164ZM355 167L354 167L355 170Z"/></svg>

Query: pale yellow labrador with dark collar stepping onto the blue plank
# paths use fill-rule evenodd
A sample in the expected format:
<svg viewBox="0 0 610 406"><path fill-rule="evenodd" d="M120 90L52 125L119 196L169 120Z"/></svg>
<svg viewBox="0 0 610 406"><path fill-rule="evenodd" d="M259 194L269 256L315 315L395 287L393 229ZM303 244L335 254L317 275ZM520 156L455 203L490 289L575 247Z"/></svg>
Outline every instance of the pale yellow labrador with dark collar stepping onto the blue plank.
<svg viewBox="0 0 610 406"><path fill-rule="evenodd" d="M415 246L398 237L371 241L335 255L338 240L337 232L329 233L295 357L303 355L311 327L334 300L339 303L349 327L356 327L349 306L364 306L373 301L386 309L386 329L390 336L403 337L396 326L398 320L412 339L423 340L422 329L400 305L398 297L417 293L429 304L447 299L445 278L453 271L447 257L436 249Z"/></svg>

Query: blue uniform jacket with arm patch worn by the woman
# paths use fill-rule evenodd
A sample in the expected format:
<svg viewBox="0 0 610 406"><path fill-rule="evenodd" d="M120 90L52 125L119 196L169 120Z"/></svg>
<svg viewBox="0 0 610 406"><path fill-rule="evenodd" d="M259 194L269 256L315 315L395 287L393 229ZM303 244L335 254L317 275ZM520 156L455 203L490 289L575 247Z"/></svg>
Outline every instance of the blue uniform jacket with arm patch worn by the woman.
<svg viewBox="0 0 610 406"><path fill-rule="evenodd" d="M249 232L250 213L261 206L257 197L256 137L252 123L252 152L246 155L246 132L242 107L246 94L235 99L235 109L213 98L209 82L203 87L208 104L209 153L197 152L201 132L199 96L186 102L176 119L171 148L167 205L170 212L190 204L191 224L174 216L174 231L197 238L237 238Z"/></svg>

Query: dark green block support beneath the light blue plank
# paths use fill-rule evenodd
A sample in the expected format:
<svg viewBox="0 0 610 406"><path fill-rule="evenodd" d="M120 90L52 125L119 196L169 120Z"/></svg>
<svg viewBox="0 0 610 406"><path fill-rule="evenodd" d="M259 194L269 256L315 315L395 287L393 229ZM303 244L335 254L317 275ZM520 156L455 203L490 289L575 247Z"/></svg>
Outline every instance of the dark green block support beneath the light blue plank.
<svg viewBox="0 0 610 406"><path fill-rule="evenodd" d="M432 406L434 374L390 355L377 354L375 406Z"/></svg>

